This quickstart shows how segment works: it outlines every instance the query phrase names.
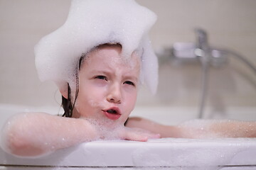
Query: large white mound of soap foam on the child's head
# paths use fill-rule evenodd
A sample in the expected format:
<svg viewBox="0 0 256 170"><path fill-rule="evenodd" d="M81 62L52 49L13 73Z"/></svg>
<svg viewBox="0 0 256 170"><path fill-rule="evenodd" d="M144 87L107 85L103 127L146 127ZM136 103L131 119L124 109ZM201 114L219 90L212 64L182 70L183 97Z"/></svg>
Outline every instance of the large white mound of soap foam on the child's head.
<svg viewBox="0 0 256 170"><path fill-rule="evenodd" d="M122 56L142 49L142 82L154 93L158 62L148 38L156 15L134 0L73 0L63 26L42 38L35 47L41 81L52 80L60 90L75 87L82 53L105 43L122 45Z"/></svg>

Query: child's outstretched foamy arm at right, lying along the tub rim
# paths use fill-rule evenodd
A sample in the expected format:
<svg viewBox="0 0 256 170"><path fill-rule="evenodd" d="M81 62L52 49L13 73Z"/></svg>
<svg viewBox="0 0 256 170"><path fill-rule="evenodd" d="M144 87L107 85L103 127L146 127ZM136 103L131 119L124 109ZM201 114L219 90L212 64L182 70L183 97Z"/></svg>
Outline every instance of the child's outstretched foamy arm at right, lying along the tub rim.
<svg viewBox="0 0 256 170"><path fill-rule="evenodd" d="M144 118L129 118L127 127L142 128L161 137L256 137L256 122L238 120L189 120L180 125L160 125Z"/></svg>

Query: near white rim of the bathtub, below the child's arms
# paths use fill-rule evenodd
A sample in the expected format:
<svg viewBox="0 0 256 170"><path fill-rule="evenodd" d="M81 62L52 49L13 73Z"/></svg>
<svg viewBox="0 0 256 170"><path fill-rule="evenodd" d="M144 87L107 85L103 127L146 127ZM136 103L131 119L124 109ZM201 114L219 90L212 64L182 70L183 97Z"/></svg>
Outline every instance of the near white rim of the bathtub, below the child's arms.
<svg viewBox="0 0 256 170"><path fill-rule="evenodd" d="M46 157L24 159L0 152L0 164L44 166L216 167L256 164L256 139L188 140L164 138L149 142L95 141L61 149ZM185 169L185 168L184 168Z"/></svg>

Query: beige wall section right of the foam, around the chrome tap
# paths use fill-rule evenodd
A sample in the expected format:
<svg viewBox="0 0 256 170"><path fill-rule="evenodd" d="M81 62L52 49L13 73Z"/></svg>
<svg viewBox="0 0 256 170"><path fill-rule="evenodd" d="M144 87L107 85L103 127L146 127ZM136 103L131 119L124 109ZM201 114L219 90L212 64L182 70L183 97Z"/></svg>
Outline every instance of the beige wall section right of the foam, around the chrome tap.
<svg viewBox="0 0 256 170"><path fill-rule="evenodd" d="M147 1L158 21L151 31L156 51L174 42L196 42L195 28L208 33L209 44L244 55L256 65L256 1ZM230 56L228 64L210 68L206 105L219 111L225 107L256 106L256 74ZM142 104L198 106L201 64L177 65L159 59L159 91L152 99L142 93Z"/></svg>

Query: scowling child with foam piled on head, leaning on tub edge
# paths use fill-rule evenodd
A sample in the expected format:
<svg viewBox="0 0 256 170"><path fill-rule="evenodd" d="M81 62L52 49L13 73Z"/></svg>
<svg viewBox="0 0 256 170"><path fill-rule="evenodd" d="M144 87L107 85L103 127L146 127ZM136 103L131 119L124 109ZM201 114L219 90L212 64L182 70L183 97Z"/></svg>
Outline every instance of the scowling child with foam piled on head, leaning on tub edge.
<svg viewBox="0 0 256 170"><path fill-rule="evenodd" d="M58 85L67 118L19 113L6 123L1 147L33 157L100 139L256 137L255 122L166 126L128 119L139 84L156 91L157 60L147 38L155 21L154 13L132 0L74 0L65 24L36 46L38 75Z"/></svg>

